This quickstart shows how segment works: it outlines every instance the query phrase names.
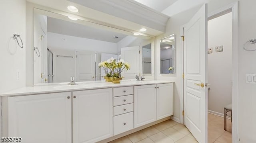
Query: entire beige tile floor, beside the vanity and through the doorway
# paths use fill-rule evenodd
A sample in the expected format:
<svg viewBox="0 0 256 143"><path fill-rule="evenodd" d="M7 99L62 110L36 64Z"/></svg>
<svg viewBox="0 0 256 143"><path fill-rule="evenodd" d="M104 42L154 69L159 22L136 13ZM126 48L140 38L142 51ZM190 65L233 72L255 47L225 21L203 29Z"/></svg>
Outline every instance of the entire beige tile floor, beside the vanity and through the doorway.
<svg viewBox="0 0 256 143"><path fill-rule="evenodd" d="M208 114L208 143L232 143L231 121L224 130L222 117ZM121 137L110 143L198 143L188 129L176 121L167 120Z"/></svg>

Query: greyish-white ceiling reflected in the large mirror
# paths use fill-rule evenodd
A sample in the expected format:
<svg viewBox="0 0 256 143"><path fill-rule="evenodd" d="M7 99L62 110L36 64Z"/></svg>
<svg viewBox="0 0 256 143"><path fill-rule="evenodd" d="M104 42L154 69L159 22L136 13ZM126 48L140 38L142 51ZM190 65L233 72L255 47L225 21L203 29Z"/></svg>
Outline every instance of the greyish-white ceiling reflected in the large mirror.
<svg viewBox="0 0 256 143"><path fill-rule="evenodd" d="M52 33L95 39L112 43L117 43L126 37L126 35L121 33L76 24L74 22L68 22L51 17L47 17L47 30L48 32ZM118 38L114 38L115 36Z"/></svg>

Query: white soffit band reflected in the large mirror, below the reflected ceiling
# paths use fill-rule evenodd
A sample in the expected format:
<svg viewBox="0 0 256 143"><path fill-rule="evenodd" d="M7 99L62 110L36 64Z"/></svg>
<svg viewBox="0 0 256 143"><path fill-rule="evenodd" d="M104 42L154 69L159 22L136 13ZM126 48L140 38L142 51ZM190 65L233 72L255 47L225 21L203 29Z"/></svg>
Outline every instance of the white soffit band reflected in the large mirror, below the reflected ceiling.
<svg viewBox="0 0 256 143"><path fill-rule="evenodd" d="M48 47L116 54L117 44L48 32Z"/></svg>

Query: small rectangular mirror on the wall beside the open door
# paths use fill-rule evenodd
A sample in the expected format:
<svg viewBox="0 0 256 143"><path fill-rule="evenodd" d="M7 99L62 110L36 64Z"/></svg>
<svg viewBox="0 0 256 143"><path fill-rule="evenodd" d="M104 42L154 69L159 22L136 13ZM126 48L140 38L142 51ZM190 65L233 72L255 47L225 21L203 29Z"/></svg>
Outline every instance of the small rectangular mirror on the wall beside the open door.
<svg viewBox="0 0 256 143"><path fill-rule="evenodd" d="M175 72L175 35L164 37L160 41L160 73L174 74Z"/></svg>

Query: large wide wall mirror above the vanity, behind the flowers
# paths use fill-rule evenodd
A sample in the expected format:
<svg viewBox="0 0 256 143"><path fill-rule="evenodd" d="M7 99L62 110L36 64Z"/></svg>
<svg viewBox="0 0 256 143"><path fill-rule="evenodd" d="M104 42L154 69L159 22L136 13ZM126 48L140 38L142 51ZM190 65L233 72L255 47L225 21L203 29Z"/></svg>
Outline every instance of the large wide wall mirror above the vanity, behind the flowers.
<svg viewBox="0 0 256 143"><path fill-rule="evenodd" d="M98 63L111 57L130 63L124 79L152 75L152 49L152 37L34 9L34 84L104 80Z"/></svg>

